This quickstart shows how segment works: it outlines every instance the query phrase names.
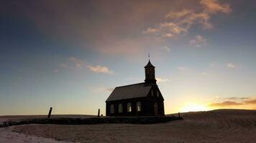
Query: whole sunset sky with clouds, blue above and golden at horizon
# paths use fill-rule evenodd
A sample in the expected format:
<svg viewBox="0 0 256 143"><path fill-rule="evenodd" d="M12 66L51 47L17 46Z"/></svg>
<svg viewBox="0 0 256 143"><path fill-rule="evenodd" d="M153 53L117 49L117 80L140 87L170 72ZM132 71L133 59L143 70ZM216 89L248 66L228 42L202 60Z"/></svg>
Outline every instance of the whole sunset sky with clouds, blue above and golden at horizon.
<svg viewBox="0 0 256 143"><path fill-rule="evenodd" d="M156 67L165 114L256 109L256 1L0 1L0 115L105 114Z"/></svg>

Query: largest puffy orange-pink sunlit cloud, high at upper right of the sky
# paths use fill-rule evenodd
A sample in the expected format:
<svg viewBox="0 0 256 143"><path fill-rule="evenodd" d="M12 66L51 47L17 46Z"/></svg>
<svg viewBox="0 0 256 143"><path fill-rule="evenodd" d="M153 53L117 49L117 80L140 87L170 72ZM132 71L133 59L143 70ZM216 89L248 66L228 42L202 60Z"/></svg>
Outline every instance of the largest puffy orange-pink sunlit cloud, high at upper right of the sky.
<svg viewBox="0 0 256 143"><path fill-rule="evenodd" d="M201 0L199 4L201 4L203 8L201 11L194 11L191 9L170 11L165 15L165 22L153 27L148 27L143 33L155 34L171 39L180 34L188 33L191 27L196 24L201 25L202 29L212 29L214 26L211 24L210 19L213 14L229 14L232 11L229 4L220 4L216 0Z"/></svg>

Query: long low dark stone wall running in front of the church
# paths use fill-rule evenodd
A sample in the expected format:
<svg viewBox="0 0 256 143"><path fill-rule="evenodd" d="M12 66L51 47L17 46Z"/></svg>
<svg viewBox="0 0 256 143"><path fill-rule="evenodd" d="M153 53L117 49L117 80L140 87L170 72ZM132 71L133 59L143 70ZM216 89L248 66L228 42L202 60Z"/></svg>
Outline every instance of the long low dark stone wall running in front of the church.
<svg viewBox="0 0 256 143"><path fill-rule="evenodd" d="M93 118L38 118L1 122L0 127L22 124L155 124L183 119L182 117L93 117Z"/></svg>

